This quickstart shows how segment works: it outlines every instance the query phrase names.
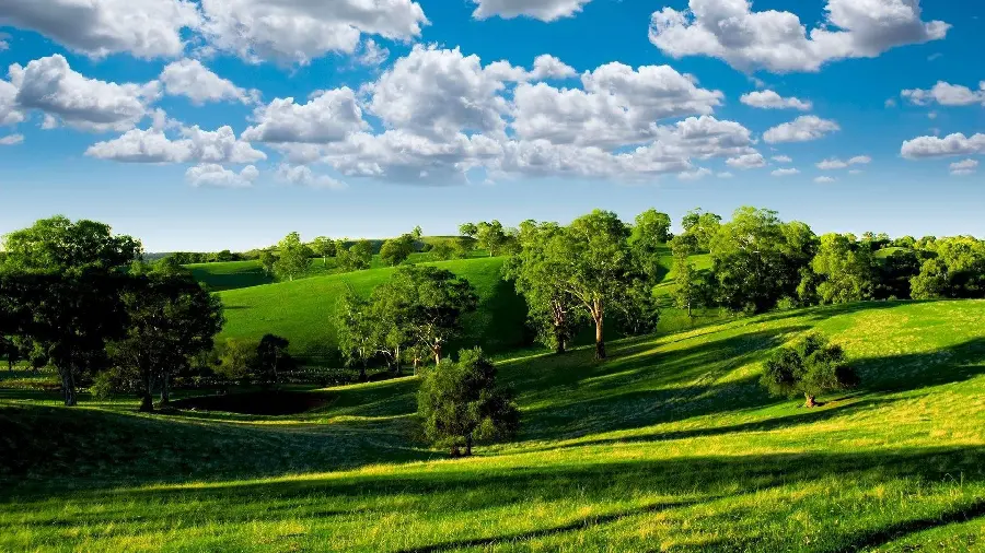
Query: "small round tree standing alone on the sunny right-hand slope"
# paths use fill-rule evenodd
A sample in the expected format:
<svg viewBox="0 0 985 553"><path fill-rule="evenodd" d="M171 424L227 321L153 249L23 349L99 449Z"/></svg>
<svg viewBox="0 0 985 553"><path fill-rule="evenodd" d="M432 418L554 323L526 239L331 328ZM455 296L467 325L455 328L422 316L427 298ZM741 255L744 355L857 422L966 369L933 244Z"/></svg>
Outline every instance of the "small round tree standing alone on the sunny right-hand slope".
<svg viewBox="0 0 985 553"><path fill-rule="evenodd" d="M826 391L858 386L858 375L845 362L845 352L821 334L808 334L792 348L781 348L765 364L763 385L774 396L803 395L804 407L818 405Z"/></svg>

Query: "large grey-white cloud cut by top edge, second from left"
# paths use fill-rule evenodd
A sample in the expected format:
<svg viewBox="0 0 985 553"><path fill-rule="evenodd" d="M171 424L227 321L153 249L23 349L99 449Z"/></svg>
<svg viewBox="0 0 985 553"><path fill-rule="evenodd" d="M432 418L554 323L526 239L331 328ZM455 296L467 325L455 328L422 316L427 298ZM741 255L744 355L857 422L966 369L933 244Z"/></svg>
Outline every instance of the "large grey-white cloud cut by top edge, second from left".
<svg viewBox="0 0 985 553"><path fill-rule="evenodd" d="M363 35L410 40L428 24L412 0L202 0L201 8L210 45L251 61L305 64L355 52Z"/></svg>

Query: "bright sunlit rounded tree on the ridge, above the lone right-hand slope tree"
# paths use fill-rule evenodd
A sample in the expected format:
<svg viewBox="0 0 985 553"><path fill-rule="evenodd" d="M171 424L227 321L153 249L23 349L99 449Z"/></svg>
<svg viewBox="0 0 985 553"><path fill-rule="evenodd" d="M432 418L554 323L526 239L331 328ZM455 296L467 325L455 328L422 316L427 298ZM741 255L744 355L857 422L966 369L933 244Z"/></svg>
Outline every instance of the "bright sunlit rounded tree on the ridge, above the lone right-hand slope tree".
<svg viewBox="0 0 985 553"><path fill-rule="evenodd" d="M818 296L823 304L844 304L872 299L878 279L878 263L872 249L841 234L825 234L812 261L822 280Z"/></svg>

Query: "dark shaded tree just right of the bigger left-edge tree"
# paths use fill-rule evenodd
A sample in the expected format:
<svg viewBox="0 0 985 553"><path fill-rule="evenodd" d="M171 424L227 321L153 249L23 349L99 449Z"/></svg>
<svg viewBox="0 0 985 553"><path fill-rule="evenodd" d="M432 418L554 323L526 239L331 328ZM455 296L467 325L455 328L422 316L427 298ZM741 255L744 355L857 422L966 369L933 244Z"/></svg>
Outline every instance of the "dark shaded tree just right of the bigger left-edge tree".
<svg viewBox="0 0 985 553"><path fill-rule="evenodd" d="M132 275L121 298L126 336L109 352L118 366L139 378L140 410L150 412L154 390L160 387L161 404L167 405L172 377L212 349L224 321L222 303L190 275L158 271Z"/></svg>

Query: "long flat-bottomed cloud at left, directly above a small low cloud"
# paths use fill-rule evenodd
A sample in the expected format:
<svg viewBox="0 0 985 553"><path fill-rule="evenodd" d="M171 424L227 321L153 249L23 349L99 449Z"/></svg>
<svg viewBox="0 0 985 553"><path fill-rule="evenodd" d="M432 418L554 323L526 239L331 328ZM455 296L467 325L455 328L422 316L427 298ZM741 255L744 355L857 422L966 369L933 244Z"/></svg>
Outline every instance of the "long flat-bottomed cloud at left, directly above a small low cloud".
<svg viewBox="0 0 985 553"><path fill-rule="evenodd" d="M205 131L195 127L181 130L181 139L167 138L160 128L132 129L119 138L99 142L85 155L127 163L254 163L267 154L248 142L237 140L231 127Z"/></svg>

